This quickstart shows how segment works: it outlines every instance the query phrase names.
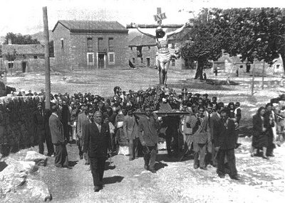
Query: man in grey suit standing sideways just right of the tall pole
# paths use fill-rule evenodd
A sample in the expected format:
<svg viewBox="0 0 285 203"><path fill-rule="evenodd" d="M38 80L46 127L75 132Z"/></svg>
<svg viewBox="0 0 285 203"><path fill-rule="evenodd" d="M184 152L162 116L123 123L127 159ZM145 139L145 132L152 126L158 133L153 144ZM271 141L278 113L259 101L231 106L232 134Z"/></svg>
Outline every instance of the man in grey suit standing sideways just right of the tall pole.
<svg viewBox="0 0 285 203"><path fill-rule="evenodd" d="M54 165L57 168L70 168L68 166L68 155L66 150L66 141L64 140L63 124L58 118L58 107L51 106L52 114L49 117L48 123L51 129L51 141L56 146L56 155Z"/></svg>

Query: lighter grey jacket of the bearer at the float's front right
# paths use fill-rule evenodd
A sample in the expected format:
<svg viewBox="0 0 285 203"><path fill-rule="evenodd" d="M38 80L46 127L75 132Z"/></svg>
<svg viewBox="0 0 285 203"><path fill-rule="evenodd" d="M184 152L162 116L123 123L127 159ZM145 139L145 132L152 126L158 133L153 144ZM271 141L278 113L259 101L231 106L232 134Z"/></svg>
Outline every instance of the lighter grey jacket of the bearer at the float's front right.
<svg viewBox="0 0 285 203"><path fill-rule="evenodd" d="M204 144L207 143L210 133L209 133L209 119L207 116L204 116L201 122L201 125L197 125L198 118L197 116L191 116L191 128L194 133L193 142Z"/></svg>

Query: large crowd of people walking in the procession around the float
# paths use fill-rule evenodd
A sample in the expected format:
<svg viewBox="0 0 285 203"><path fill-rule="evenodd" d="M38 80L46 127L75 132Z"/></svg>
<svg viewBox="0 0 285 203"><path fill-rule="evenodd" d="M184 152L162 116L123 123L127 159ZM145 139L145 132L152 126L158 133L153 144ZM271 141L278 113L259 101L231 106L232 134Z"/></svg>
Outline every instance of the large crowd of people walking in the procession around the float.
<svg viewBox="0 0 285 203"><path fill-rule="evenodd" d="M41 94L44 96L44 92ZM269 106L266 105L267 111L271 111ZM185 88L178 94L167 88L125 92L114 87L110 98L81 92L54 94L51 111L43 109L39 103L34 114L41 132L38 133L39 152L43 153L46 141L48 155L55 153L56 167L70 168L66 143L77 143L79 158L90 165L95 191L102 189L103 165L110 155L129 155L129 160L134 160L141 153L144 168L156 172L157 143L162 138L170 157L177 157L180 152L182 158L193 155L195 169L207 170L211 164L217 167L219 177L229 173L229 177L239 180L234 156L234 148L240 145L237 141L242 118L239 102L225 105L217 97L209 99L208 94L192 94ZM263 157L268 158L273 155L274 139L264 128L273 129L274 121L265 119L272 116L262 116L263 110L259 109L258 116L254 116L254 132L259 133L253 136L252 155L254 148L261 148L266 151ZM162 112L174 114L160 116ZM266 114L272 115L274 111ZM260 122L264 122L261 130Z"/></svg>

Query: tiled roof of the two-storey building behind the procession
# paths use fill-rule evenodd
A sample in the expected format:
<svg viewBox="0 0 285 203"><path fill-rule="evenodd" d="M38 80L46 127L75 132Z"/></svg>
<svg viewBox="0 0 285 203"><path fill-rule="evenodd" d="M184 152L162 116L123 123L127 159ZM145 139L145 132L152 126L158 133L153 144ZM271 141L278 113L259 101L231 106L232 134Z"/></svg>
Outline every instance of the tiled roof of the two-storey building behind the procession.
<svg viewBox="0 0 285 203"><path fill-rule="evenodd" d="M60 20L56 23L61 23L71 33L92 32L92 33L128 33L128 29L117 21L67 21ZM53 31L56 29L54 26Z"/></svg>

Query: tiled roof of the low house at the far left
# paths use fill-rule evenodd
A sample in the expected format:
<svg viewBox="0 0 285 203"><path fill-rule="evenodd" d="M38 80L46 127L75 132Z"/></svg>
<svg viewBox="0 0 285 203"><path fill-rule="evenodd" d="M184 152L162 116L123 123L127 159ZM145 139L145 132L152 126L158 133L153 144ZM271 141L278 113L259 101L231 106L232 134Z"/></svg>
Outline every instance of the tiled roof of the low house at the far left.
<svg viewBox="0 0 285 203"><path fill-rule="evenodd" d="M44 45L33 44L33 45L3 45L2 55L7 53L14 53L16 50L17 54L33 54L33 55L44 55Z"/></svg>

